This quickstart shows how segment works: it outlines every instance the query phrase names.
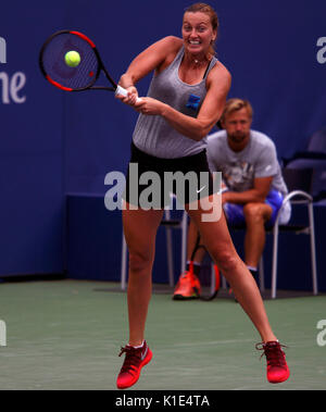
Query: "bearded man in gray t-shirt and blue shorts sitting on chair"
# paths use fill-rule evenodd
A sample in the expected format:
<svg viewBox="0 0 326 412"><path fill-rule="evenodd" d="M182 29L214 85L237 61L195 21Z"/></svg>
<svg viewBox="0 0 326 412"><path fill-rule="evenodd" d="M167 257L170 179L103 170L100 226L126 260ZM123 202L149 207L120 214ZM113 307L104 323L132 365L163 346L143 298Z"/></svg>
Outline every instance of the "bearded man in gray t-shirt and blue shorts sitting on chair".
<svg viewBox="0 0 326 412"><path fill-rule="evenodd" d="M246 223L244 262L256 276L265 246L265 225L273 225L288 190L283 179L274 142L251 129L252 108L246 100L230 99L221 118L223 130L208 138L208 160L212 172L222 172L222 203L230 227ZM281 211L280 224L290 220L288 202ZM198 232L190 222L187 271L181 274L174 299L197 298L200 287L196 274L204 251L199 249L189 264Z"/></svg>

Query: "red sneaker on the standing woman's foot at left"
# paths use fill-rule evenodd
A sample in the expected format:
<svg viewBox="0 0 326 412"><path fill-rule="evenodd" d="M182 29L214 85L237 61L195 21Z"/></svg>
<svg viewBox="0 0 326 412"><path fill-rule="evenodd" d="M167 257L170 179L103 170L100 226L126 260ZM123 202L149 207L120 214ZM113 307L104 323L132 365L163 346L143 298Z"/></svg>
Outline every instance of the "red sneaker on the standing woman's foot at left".
<svg viewBox="0 0 326 412"><path fill-rule="evenodd" d="M121 348L120 357L126 353L125 361L116 379L118 389L126 389L136 384L139 379L142 366L147 365L153 353L145 341L141 348L135 349L131 346Z"/></svg>

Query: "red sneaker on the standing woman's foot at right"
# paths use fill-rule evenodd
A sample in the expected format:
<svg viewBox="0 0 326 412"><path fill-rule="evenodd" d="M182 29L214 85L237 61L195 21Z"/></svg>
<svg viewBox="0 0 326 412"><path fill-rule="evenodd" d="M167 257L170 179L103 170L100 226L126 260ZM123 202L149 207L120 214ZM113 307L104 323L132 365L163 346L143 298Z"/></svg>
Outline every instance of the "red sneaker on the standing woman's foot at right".
<svg viewBox="0 0 326 412"><path fill-rule="evenodd" d="M266 355L267 361L267 380L271 384L280 384L285 382L290 376L290 370L287 365L285 352L281 350L281 347L286 348L284 345L280 345L277 340L269 341L266 344L258 344L255 348L258 350L263 350Z"/></svg>

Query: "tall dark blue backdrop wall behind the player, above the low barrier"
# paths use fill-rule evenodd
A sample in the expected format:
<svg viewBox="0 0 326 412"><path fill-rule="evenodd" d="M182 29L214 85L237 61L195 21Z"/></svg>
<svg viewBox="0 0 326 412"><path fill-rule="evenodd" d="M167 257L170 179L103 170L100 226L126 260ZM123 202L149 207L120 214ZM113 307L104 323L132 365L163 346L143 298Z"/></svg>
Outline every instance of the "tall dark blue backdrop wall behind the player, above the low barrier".
<svg viewBox="0 0 326 412"><path fill-rule="evenodd" d="M63 271L65 195L104 195L106 173L126 168L137 118L105 91L65 93L48 85L38 68L43 40L62 28L84 32L118 79L147 46L180 35L190 3L1 3L0 274ZM317 60L318 51L326 57L317 47L326 37L325 0L211 3L221 20L217 55L233 75L229 97L252 102L253 127L272 137L279 157L303 150L326 126L326 63Z"/></svg>

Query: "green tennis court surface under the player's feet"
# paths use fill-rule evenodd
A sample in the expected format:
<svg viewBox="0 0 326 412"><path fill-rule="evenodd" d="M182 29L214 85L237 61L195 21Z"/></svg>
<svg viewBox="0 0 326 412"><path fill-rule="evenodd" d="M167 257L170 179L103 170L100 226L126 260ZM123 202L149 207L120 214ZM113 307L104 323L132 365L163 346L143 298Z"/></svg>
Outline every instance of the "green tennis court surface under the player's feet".
<svg viewBox="0 0 326 412"><path fill-rule="evenodd" d="M317 323L326 297L265 301L273 329L288 346L291 376L271 385L260 340L233 299L175 302L153 294L147 341L153 360L133 389L326 389L326 346ZM48 280L0 284L0 389L112 390L127 341L126 294L117 284ZM326 337L324 337L326 339ZM3 340L2 340L3 342Z"/></svg>

